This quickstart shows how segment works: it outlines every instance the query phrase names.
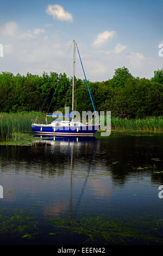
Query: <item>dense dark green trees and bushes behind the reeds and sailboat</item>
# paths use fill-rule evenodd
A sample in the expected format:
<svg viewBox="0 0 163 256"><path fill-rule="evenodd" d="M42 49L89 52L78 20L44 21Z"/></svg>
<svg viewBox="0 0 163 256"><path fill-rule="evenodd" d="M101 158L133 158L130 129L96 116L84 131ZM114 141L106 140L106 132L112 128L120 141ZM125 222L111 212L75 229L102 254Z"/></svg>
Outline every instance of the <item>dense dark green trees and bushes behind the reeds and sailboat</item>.
<svg viewBox="0 0 163 256"><path fill-rule="evenodd" d="M72 78L68 78L65 73L14 76L2 72L0 112L62 110L64 106L71 106L71 84ZM149 80L133 77L125 67L118 68L112 79L89 82L89 86L97 111L111 111L112 115L120 118L162 115L163 69L154 71L154 76ZM84 80L76 78L75 97L79 112L93 110Z"/></svg>

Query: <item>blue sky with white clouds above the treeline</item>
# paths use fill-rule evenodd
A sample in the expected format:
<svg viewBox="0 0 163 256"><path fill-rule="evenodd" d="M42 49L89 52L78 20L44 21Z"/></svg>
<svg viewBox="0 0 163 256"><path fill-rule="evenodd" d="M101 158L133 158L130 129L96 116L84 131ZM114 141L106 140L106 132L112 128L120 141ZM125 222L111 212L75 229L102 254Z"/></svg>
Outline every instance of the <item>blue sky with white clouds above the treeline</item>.
<svg viewBox="0 0 163 256"><path fill-rule="evenodd" d="M6 0L0 8L0 71L71 76L72 50L66 62L65 56L76 39L89 80L107 80L122 66L151 77L163 66L162 8L162 0ZM84 78L78 58L76 75Z"/></svg>

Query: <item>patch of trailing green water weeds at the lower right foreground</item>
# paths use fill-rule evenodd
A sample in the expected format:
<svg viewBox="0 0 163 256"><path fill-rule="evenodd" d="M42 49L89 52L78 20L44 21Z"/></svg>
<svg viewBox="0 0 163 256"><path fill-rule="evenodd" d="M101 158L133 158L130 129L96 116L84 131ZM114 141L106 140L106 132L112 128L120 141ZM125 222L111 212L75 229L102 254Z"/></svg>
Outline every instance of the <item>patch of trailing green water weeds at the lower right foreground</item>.
<svg viewBox="0 0 163 256"><path fill-rule="evenodd" d="M87 239L83 242L103 241L105 244L131 244L133 240L138 240L144 243L163 243L161 237L163 220L158 220L155 216L137 218L96 216L71 220L70 218L54 218L51 221L55 233L70 234L72 232L85 235Z"/></svg>

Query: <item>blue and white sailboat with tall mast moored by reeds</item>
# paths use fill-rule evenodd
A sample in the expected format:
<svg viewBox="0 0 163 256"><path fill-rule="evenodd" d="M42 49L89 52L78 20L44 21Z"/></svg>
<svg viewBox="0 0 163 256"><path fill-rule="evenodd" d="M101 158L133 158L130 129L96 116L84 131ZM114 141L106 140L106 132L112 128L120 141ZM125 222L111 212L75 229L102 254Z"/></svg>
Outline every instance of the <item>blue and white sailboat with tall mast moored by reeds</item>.
<svg viewBox="0 0 163 256"><path fill-rule="evenodd" d="M47 122L45 124L43 123L37 123L37 121L33 120L32 123L32 130L36 133L41 133L45 135L57 135L57 136L90 136L93 135L98 129L99 129L99 121L98 121L98 116L96 113L95 106L93 104L91 92L89 89L89 85L86 80L85 72L85 81L87 84L87 89L89 90L89 95L91 98L92 106L95 112L95 115L97 117L97 123L95 124L89 124L85 123L83 124L80 121L75 120L75 112L74 112L74 68L75 68L75 63L76 63L76 47L77 51L79 54L79 59L80 63L82 65L82 69L84 72L83 64L82 64L82 59L80 58L80 53L78 50L78 46L76 43L76 40L73 40L73 76L72 76L72 112L70 114L66 115L60 115L60 114L47 114L47 117L51 118L57 118L53 119L50 124ZM66 120L58 120L58 118L65 118ZM68 119L68 120L67 120ZM96 120L96 119L95 119Z"/></svg>

